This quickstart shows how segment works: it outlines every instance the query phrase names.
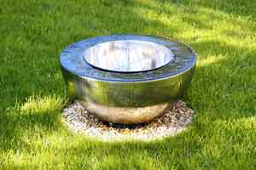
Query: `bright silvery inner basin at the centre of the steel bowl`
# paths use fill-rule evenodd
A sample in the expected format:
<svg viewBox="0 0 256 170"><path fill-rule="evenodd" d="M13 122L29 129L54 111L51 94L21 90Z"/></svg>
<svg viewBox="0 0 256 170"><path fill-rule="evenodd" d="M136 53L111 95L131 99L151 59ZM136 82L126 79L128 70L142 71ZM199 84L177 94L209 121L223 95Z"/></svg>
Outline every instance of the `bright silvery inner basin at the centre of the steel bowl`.
<svg viewBox="0 0 256 170"><path fill-rule="evenodd" d="M84 59L92 66L118 72L150 71L174 59L172 51L154 42L120 40L102 42L84 51Z"/></svg>

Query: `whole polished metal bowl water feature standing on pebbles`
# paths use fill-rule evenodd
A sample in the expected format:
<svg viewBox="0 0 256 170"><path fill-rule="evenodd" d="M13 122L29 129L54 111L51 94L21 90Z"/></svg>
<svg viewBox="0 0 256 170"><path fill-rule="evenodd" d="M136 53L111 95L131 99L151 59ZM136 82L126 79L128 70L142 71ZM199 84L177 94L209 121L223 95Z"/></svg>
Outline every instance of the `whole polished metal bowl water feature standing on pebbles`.
<svg viewBox="0 0 256 170"><path fill-rule="evenodd" d="M160 37L111 35L68 46L61 66L69 95L107 122L150 122L181 98L195 52Z"/></svg>

